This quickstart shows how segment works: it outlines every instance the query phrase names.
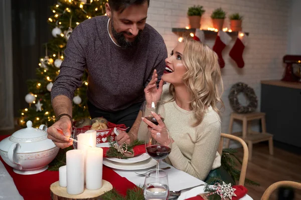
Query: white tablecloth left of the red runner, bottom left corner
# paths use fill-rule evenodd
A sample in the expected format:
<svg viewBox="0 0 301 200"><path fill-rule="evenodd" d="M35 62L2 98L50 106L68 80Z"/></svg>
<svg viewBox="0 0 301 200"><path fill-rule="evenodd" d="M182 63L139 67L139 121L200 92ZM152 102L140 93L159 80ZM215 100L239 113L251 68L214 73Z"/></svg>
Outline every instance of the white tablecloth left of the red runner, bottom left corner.
<svg viewBox="0 0 301 200"><path fill-rule="evenodd" d="M6 200L24 199L20 195L12 176L6 170L5 166L1 161L0 161L0 199L6 199Z"/></svg>

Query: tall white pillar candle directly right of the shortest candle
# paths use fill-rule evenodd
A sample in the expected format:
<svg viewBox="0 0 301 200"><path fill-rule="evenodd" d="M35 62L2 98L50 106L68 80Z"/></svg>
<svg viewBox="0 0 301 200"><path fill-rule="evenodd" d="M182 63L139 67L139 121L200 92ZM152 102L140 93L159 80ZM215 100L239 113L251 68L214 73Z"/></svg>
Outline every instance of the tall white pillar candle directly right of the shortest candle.
<svg viewBox="0 0 301 200"><path fill-rule="evenodd" d="M67 193L80 194L84 191L84 155L81 150L66 152Z"/></svg>

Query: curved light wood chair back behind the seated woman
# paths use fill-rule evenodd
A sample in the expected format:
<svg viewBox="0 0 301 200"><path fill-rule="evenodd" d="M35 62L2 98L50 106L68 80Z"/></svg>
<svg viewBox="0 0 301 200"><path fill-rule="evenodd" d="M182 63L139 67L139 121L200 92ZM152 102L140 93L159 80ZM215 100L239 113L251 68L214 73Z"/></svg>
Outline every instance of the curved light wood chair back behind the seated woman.
<svg viewBox="0 0 301 200"><path fill-rule="evenodd" d="M220 155L222 155L222 151L223 151L224 138L233 139L242 144L243 159L242 159L241 172L240 172L238 184L244 185L244 180L246 178L247 165L248 165L248 156L249 156L248 146L247 146L246 142L243 139L241 139L240 137L237 137L237 136L231 135L231 134L221 133L221 140L220 140L219 147L217 150Z"/></svg>

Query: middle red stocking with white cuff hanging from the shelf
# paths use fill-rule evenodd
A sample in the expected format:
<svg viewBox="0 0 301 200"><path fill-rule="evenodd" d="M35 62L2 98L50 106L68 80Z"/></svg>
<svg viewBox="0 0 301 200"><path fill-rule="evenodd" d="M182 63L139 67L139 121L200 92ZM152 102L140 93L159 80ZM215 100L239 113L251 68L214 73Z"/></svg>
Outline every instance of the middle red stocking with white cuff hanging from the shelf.
<svg viewBox="0 0 301 200"><path fill-rule="evenodd" d="M213 46L213 50L217 53L218 55L218 62L221 68L224 68L225 66L225 61L222 56L222 51L225 48L226 45L229 44L231 41L231 37L224 31L220 30L217 33L217 37L215 39L215 43Z"/></svg>

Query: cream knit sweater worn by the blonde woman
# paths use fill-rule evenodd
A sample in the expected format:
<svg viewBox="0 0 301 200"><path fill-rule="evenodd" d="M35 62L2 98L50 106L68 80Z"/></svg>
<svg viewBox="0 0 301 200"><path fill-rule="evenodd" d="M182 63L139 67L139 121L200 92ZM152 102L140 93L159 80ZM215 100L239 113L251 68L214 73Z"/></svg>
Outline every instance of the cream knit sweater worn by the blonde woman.
<svg viewBox="0 0 301 200"><path fill-rule="evenodd" d="M168 101L171 98L169 84L165 84L161 100ZM164 107L164 122L170 136L175 140L165 161L204 180L210 170L221 165L221 157L217 152L221 134L221 119L218 113L209 107L203 121L193 127L191 124L195 121L195 116L192 111L182 109L175 101L165 103ZM147 125L141 121L138 139L145 140L146 133Z"/></svg>

